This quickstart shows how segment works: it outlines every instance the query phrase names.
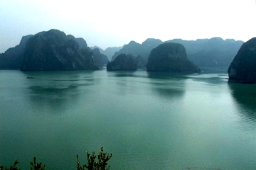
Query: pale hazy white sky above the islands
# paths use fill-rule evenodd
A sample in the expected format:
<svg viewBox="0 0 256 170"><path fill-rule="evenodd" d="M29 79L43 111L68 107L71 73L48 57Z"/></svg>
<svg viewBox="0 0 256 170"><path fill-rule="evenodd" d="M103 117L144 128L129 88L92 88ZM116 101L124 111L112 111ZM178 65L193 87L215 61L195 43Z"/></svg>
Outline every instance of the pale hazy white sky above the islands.
<svg viewBox="0 0 256 170"><path fill-rule="evenodd" d="M58 29L88 46L131 40L256 36L255 0L0 0L0 52L23 35Z"/></svg>

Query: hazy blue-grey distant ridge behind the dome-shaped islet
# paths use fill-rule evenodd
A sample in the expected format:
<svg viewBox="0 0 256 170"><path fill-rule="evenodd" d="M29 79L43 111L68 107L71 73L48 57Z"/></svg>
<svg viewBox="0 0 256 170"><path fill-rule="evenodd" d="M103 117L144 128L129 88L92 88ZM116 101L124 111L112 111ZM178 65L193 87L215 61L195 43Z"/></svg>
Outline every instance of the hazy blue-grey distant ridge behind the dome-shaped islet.
<svg viewBox="0 0 256 170"><path fill-rule="evenodd" d="M183 45L188 59L200 67L228 67L243 43L239 40L223 40L218 37L198 40L174 39L164 43L168 42ZM161 40L154 38L148 38L142 44L131 41L115 52L112 61L120 54L132 54L137 57L138 67L145 67L151 50L162 43Z"/></svg>

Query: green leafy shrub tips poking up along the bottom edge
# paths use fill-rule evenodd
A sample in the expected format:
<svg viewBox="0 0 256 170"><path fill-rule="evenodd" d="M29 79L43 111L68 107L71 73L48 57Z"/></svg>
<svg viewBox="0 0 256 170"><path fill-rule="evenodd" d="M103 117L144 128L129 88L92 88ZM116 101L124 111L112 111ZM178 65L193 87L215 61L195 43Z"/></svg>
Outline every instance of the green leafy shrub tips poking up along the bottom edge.
<svg viewBox="0 0 256 170"><path fill-rule="evenodd" d="M92 152L92 154L86 152L87 154L87 163L86 164L80 164L79 157L77 154L77 170L107 170L110 169L110 166L107 166L107 162L112 157L112 154L107 154L106 152L103 152L103 147L100 148L100 153L98 155L95 154L95 152ZM96 159L97 158L97 159ZM11 165L10 168L7 168L6 166L3 166L0 164L0 170L21 170L16 165L18 164L18 160L14 162L14 165ZM36 157L33 157L33 162L29 163L32 167L31 170L46 170L46 165L42 164L41 162L36 162Z"/></svg>

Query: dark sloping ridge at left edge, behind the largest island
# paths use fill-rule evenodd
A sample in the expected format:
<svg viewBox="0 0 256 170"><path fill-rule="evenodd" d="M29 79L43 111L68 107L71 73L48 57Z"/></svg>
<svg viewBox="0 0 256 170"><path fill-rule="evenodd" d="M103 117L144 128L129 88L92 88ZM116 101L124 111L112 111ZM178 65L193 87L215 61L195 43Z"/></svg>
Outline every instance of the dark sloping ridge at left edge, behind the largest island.
<svg viewBox="0 0 256 170"><path fill-rule="evenodd" d="M31 37L33 35L23 36L19 45L9 48L0 55L0 69L21 69L26 44Z"/></svg>

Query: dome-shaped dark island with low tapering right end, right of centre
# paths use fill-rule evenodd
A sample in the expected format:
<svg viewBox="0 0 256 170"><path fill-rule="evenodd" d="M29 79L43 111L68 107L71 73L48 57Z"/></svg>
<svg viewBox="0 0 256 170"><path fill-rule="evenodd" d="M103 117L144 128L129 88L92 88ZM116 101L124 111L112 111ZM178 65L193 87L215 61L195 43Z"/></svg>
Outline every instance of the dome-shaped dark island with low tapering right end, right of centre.
<svg viewBox="0 0 256 170"><path fill-rule="evenodd" d="M186 55L186 49L178 43L164 43L154 48L146 64L150 72L199 72Z"/></svg>

